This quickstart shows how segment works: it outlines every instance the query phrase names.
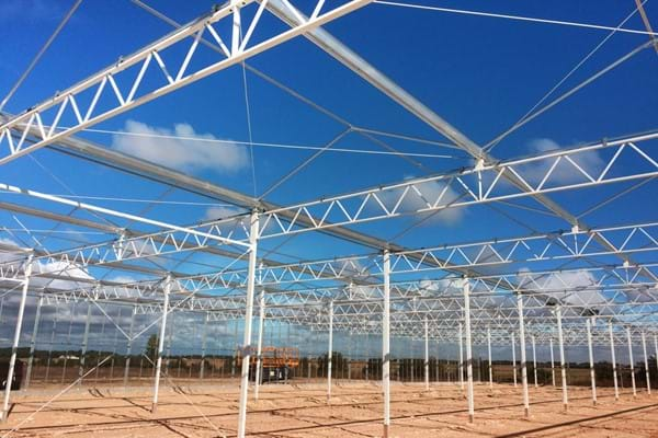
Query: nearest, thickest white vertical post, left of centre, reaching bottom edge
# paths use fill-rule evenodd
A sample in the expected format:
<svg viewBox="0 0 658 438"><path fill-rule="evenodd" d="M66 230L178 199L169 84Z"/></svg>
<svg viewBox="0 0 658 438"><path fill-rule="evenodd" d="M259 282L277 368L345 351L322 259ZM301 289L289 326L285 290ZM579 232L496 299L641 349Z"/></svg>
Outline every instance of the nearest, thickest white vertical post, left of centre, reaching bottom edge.
<svg viewBox="0 0 658 438"><path fill-rule="evenodd" d="M238 14L235 11L235 15ZM234 28L234 32L236 30ZM235 35L234 35L235 36ZM258 235L260 232L258 211L250 216L249 228L249 267L247 270L247 308L245 311L245 333L242 341L242 370L240 374L240 408L238 416L238 438L245 438L247 427L247 397L249 395L249 367L251 365L251 322L253 319L253 293L256 288L256 263L258 255Z"/></svg>

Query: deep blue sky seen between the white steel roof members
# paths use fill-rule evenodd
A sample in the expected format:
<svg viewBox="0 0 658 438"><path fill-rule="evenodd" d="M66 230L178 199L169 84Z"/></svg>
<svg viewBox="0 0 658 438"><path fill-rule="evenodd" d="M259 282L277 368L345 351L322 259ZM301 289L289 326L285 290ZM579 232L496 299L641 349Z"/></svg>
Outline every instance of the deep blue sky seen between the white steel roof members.
<svg viewBox="0 0 658 438"><path fill-rule="evenodd" d="M656 23L658 7L653 1L646 3L646 10L650 20ZM0 46L2 95L13 85L70 3L7 0L0 4L0 37L4 42ZM209 11L212 3L201 0L154 0L148 4L184 23ZM418 0L416 3L423 2ZM549 4L542 1L424 1L424 4L606 26L616 26L634 7L632 2L614 0L599 1L595 5L587 1ZM275 25L274 20L266 23ZM637 14L625 27L644 28ZM609 34L608 31L600 30L384 4L371 4L330 23L327 30L480 145L487 143L512 125ZM56 90L66 89L116 61L120 56L131 54L170 31L170 26L128 0L84 1L5 110L19 113L52 96ZM646 41L646 35L615 34L547 102ZM248 64L354 126L445 141L442 136L304 38L296 38L259 55ZM506 138L492 153L500 159L514 158L545 149L655 129L658 107L658 93L655 92L658 88L657 72L656 53L645 49ZM230 68L94 128L248 141L242 74L241 68ZM344 130L340 123L291 97L256 74L248 71L246 78L254 141L319 147ZM177 170L250 195L254 192L262 194L266 187L314 153L254 147L252 163L249 149L232 143L208 150L216 145L191 146L177 140L163 145L163 141L149 138L93 131L81 132L79 137L122 152L164 160L167 165ZM427 172L446 172L473 164L468 155L460 150L399 139L386 141L406 152L450 155L418 159ZM190 149L182 154L175 153L182 147ZM354 132L345 135L336 147L381 150L378 146ZM167 157L161 152L162 148L168 151ZM252 166L256 181L252 178ZM421 176L422 172L396 157L327 152L274 191L268 199L291 205ZM134 198L163 196L164 200L220 204L181 191L168 192L161 184L98 164L83 163L79 159L50 150L41 150L33 157L23 157L3 165L0 174L1 182L56 194L70 189L76 195ZM628 186L564 193L553 195L553 198L578 214ZM648 184L624 196L614 206L597 210L586 220L593 226L651 220L657 207L656 203L647 203L647 198L650 199L654 192L651 184ZM2 195L1 199L68 211L67 208L52 204L18 199L15 195ZM145 207L144 204L116 200L94 200L94 204L135 214L141 212ZM529 199L520 200L519 204L537 206ZM219 209L212 210L213 207ZM395 241L416 247L568 228L563 220L546 215L509 206L495 207L492 209L483 205L442 212ZM159 205L145 215L175 223L194 223L213 217L214 214L235 211L222 208L224 207L205 204ZM11 215L0 215L2 223L18 227ZM76 215L92 218L84 212ZM520 223L510 221L510 215ZM35 218L21 219L27 228L53 226ZM401 218L354 228L387 240L417 219ZM24 238L27 240L27 237ZM79 238L102 241L113 237ZM71 245L71 242L48 239L52 249ZM273 239L262 247L274 247L282 241ZM302 258L316 258L370 250L327 237L306 234L284 243L280 251ZM198 269L196 266L184 265L182 268L190 272Z"/></svg>

